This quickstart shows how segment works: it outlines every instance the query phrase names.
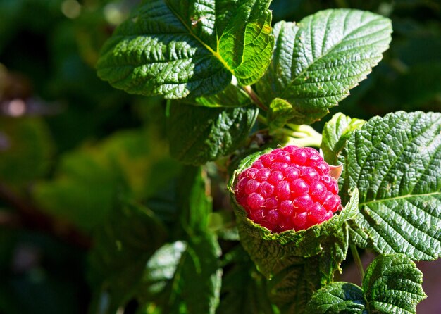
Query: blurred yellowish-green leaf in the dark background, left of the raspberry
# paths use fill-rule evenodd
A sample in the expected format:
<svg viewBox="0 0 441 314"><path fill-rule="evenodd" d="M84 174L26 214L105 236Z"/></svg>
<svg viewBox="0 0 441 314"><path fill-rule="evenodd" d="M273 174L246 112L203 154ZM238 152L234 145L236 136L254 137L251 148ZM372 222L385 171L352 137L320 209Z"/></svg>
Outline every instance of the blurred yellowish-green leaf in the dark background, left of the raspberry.
<svg viewBox="0 0 441 314"><path fill-rule="evenodd" d="M154 134L152 129L124 131L66 153L54 179L39 182L33 196L44 211L92 230L111 211L118 193L144 199L180 169Z"/></svg>

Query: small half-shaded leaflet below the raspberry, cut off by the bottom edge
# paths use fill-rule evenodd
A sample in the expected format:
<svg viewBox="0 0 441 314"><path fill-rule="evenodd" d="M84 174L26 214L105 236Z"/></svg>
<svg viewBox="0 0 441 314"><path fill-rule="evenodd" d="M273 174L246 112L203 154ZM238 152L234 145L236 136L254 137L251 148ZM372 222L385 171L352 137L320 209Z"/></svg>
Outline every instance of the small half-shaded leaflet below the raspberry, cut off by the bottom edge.
<svg viewBox="0 0 441 314"><path fill-rule="evenodd" d="M368 314L364 291L356 284L333 282L318 290L306 307L306 313Z"/></svg>

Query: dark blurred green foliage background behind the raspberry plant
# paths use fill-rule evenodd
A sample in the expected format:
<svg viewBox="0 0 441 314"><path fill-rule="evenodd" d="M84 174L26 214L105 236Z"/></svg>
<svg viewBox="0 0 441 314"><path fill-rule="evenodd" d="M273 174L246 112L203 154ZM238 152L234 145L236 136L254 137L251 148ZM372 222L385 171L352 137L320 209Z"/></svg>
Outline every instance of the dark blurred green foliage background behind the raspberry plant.
<svg viewBox="0 0 441 314"><path fill-rule="evenodd" d="M113 89L94 70L101 45L138 2L0 0L0 313L104 313L97 287L128 271L118 258L138 260L155 248L134 238L124 256L106 251L101 238L116 232L108 227L121 198L150 208L168 240L180 238L175 194L184 170L168 154L165 102ZM380 65L331 114L441 111L441 2L271 5L273 23L338 7L386 15L394 34ZM330 116L313 127L321 130ZM223 182L216 171L213 186ZM215 218L228 213L222 187L213 206ZM139 213L137 221L152 223ZM131 232L151 241L136 226ZM120 313L135 313L137 303L126 301ZM432 309L421 313L440 310Z"/></svg>

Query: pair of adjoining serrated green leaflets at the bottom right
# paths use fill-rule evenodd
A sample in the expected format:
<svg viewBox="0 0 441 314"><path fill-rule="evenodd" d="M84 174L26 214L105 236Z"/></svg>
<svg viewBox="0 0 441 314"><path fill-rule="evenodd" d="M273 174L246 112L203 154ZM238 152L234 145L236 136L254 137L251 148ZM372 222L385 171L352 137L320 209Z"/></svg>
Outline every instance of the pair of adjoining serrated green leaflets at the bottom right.
<svg viewBox="0 0 441 314"><path fill-rule="evenodd" d="M349 282L334 282L318 290L306 313L414 314L426 298L423 274L404 254L378 256L366 270L363 289Z"/></svg>

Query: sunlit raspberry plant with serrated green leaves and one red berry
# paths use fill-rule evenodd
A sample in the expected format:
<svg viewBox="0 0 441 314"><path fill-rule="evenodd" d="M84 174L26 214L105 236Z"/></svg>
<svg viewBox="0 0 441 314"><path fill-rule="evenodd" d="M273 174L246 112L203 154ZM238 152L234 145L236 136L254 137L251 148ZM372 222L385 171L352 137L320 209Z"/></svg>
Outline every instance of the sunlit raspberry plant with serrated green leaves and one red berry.
<svg viewBox="0 0 441 314"><path fill-rule="evenodd" d="M414 261L441 251L440 113L336 113L319 134L310 125L381 60L390 20L328 9L271 25L270 2L143 1L101 50L99 77L168 99L170 153L201 166L178 183L185 237L166 237L154 215L139 220L154 244L141 258L145 286L133 276L118 299L118 278L107 282L110 308L135 297L144 313L416 313L426 297ZM228 173L236 217L217 229L213 172ZM378 254L359 266L361 287L335 281L349 248L359 261L356 247Z"/></svg>

